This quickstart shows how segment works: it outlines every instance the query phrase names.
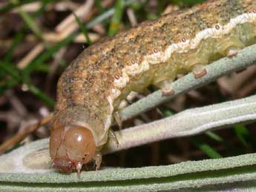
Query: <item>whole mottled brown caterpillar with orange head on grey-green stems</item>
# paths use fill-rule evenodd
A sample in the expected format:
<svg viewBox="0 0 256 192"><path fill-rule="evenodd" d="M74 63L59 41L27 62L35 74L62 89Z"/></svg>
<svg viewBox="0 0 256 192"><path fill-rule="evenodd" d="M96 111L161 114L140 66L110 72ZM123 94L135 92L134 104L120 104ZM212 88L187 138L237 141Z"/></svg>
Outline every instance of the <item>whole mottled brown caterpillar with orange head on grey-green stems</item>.
<svg viewBox="0 0 256 192"><path fill-rule="evenodd" d="M174 93L177 74L207 74L206 64L256 43L255 0L211 0L145 21L85 49L62 73L50 132L53 168L81 171L120 122L118 107L148 85Z"/></svg>

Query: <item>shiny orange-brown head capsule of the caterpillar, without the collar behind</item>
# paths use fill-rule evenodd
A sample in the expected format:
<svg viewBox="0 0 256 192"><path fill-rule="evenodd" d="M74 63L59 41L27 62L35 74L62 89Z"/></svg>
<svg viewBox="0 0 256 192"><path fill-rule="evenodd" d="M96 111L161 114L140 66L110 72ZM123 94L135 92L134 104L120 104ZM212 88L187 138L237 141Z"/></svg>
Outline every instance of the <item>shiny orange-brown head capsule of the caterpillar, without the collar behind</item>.
<svg viewBox="0 0 256 192"><path fill-rule="evenodd" d="M91 130L76 125L52 128L50 157L53 168L60 172L81 171L82 165L91 162L96 145Z"/></svg>

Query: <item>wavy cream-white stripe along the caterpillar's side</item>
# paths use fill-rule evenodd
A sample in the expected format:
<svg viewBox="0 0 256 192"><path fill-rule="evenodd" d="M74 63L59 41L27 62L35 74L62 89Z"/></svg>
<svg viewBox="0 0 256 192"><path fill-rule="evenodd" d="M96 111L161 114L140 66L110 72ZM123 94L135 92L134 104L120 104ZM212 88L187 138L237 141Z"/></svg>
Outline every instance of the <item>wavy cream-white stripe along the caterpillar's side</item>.
<svg viewBox="0 0 256 192"><path fill-rule="evenodd" d="M167 62L168 59L171 58L172 53L186 53L191 49L197 48L198 44L203 39L208 38L217 38L222 36L223 34L230 33L237 24L243 24L246 22L254 22L256 21L256 13L243 13L240 16L237 16L234 19L231 19L228 24L222 26L220 24L215 24L212 28L207 28L205 30L200 31L194 37L194 39L187 39L186 42L178 42L177 44L171 44L165 51L153 53L148 56L145 56L142 59L141 64L135 63L130 66L126 66L122 69L122 76L119 79L114 80L114 87L116 90L111 90L111 100L114 102L120 94L121 91L119 89L124 88L129 82L129 76L137 76L140 73L149 69L149 64L160 64L163 62ZM217 29L216 25L220 28ZM111 104L112 105L112 104Z"/></svg>

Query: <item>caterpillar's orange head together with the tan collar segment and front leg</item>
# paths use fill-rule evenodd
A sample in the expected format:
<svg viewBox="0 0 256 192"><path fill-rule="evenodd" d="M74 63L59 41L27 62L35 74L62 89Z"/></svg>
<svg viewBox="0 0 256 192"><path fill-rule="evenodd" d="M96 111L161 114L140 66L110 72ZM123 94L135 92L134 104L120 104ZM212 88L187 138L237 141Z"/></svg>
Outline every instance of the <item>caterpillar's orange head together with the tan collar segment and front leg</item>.
<svg viewBox="0 0 256 192"><path fill-rule="evenodd" d="M53 168L70 173L95 160L97 168L100 146L108 139L105 122L88 107L74 105L54 114L50 130L50 157Z"/></svg>

